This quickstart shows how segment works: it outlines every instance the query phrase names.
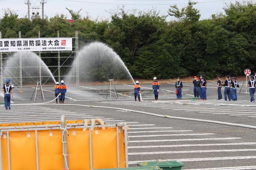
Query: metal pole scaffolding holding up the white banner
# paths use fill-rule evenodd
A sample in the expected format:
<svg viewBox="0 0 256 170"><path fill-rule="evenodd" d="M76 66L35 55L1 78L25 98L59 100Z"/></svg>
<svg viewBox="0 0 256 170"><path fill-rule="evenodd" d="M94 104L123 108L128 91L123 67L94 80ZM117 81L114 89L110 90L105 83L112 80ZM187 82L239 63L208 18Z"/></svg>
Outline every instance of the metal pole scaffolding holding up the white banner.
<svg viewBox="0 0 256 170"><path fill-rule="evenodd" d="M59 37L59 31L57 31L57 37ZM40 38L40 31L38 31L38 37ZM19 38L21 38L21 31L19 31ZM2 39L2 34L0 31L0 39ZM45 58L57 58L58 59L58 65L51 65L51 66L47 66L48 68L56 68L55 70L52 71L53 77L55 77L56 81L61 81L61 79L63 79L64 77L71 77L73 79L72 84L70 85L79 85L79 37L78 37L78 31L75 32L75 37L72 37L72 39L75 39L75 46L73 46L73 50L72 51L38 51L38 52L34 52L36 54L38 54L40 59L45 59ZM44 53L52 53L52 54L58 54L57 56L53 56L53 57L41 57L41 54ZM61 53L70 53L70 55L61 57ZM42 76L41 75L41 68L44 68L45 66L41 65L41 62L39 62L38 66L22 66L22 57L21 55L19 56L19 63L15 63L15 67L6 67L6 63L5 60L9 59L10 54L15 54L15 52L0 52L0 81L1 81L1 85L3 85L4 81L6 80L6 78L10 78L12 79L12 82L15 82L16 87L20 90L22 90L22 87L25 86L30 86L30 85L23 85L23 78L30 78L33 82L37 83L37 82L42 82L42 78L47 78L45 82L42 82L42 85L46 85L47 81L51 78L50 76ZM23 57L24 58L24 57ZM75 65L65 65L65 63L67 62L68 59L76 59L76 64ZM15 58L14 58L15 59ZM17 59L17 58L16 58ZM61 61L61 59L63 59ZM73 63L73 62L71 62ZM75 67L75 68L74 68ZM19 69L19 77L15 76L12 73L9 73L10 75L12 75L11 77L4 77L3 72L6 68L17 68ZM31 76L29 75L25 68L38 68L38 75L37 76ZM69 70L73 70L74 74L72 75L61 75L61 73L63 73L63 71L61 72L61 68L65 68L65 69L69 69ZM58 71L58 75L55 75L55 72ZM24 76L23 73L28 74L28 76ZM58 77L58 78L57 78Z"/></svg>

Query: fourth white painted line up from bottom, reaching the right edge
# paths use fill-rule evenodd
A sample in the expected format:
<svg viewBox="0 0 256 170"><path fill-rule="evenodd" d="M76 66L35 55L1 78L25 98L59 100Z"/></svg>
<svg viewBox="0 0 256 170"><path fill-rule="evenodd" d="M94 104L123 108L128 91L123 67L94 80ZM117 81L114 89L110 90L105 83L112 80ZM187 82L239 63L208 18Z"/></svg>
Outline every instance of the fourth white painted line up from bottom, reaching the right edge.
<svg viewBox="0 0 256 170"><path fill-rule="evenodd" d="M221 144L174 144L174 145L152 145L152 146L129 146L128 148L157 148L157 147L192 147L192 146L226 146L226 145L250 145L256 142L248 143L221 143Z"/></svg>

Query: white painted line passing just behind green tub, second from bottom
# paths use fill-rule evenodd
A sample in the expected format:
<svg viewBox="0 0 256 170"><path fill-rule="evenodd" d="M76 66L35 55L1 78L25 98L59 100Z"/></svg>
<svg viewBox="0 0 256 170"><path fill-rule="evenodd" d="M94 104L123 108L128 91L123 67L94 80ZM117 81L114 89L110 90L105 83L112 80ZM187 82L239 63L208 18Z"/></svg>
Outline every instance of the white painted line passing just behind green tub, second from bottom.
<svg viewBox="0 0 256 170"><path fill-rule="evenodd" d="M234 157L212 157L212 158L192 158L192 159L175 159L175 161L215 161L215 160L233 160L233 159L256 159L256 156L234 156ZM173 159L163 159L161 161L171 161ZM152 161L152 160L148 160ZM137 162L148 162L148 161L129 161L128 164L137 164Z"/></svg>

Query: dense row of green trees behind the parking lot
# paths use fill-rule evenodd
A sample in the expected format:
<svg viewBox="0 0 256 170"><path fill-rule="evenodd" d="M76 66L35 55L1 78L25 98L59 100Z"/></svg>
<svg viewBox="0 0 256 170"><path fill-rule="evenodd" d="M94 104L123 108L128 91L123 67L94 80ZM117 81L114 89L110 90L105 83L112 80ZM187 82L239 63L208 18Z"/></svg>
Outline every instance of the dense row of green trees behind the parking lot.
<svg viewBox="0 0 256 170"><path fill-rule="evenodd" d="M19 18L12 10L0 17L3 38L18 37L74 37L79 30L79 44L100 41L114 49L136 78L162 79L205 74L241 75L244 68L256 70L256 3L230 3L224 14L212 14L200 20L194 2L185 8L170 6L168 14L157 11L119 11L111 19L91 20L70 11L73 23L61 15L46 18ZM53 55L53 54L44 54ZM66 54L67 55L67 54ZM54 65L55 59L44 59ZM68 61L72 62L72 60ZM67 64L70 64L68 63Z"/></svg>

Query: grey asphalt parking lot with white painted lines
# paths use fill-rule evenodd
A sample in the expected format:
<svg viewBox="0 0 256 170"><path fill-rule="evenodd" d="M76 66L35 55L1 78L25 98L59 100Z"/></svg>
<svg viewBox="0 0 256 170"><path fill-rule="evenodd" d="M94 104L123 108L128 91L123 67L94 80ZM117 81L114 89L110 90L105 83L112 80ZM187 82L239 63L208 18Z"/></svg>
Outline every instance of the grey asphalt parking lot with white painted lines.
<svg viewBox="0 0 256 170"><path fill-rule="evenodd" d="M241 86L242 82L239 84ZM176 100L174 84L160 85L158 101L154 101L151 85L141 85L144 102L134 102L132 85L116 85L116 93L111 87L111 98L108 94L107 99L107 85L68 86L65 103L256 126L256 104L250 103L250 96L245 93L244 86L238 93L238 101L224 102L217 100L215 82L208 82L206 101L190 101L189 98L193 96L192 83L183 85L182 100ZM22 92L14 89L12 109L6 111L0 105L0 122L59 120L63 114L68 120L101 118L105 122L126 122L129 126L129 166L136 166L139 161L161 159L183 162L184 170L256 169L256 129L162 118L121 109L67 106L55 102L48 105L13 105L42 103L40 93L30 100L34 89L24 87ZM44 102L55 98L53 87L44 86L43 89ZM3 97L0 96L1 101Z"/></svg>

